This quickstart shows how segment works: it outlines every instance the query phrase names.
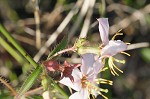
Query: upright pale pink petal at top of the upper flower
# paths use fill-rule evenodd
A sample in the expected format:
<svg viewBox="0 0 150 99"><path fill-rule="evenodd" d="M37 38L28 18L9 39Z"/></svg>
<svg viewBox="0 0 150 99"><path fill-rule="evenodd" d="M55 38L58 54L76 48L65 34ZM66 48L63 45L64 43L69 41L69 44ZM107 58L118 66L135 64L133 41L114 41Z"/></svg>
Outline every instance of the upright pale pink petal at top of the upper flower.
<svg viewBox="0 0 150 99"><path fill-rule="evenodd" d="M109 42L109 38L108 38L108 33L109 33L108 18L99 18L97 20L99 22L99 32L100 32L100 37L101 37L102 43L104 45L106 45Z"/></svg>

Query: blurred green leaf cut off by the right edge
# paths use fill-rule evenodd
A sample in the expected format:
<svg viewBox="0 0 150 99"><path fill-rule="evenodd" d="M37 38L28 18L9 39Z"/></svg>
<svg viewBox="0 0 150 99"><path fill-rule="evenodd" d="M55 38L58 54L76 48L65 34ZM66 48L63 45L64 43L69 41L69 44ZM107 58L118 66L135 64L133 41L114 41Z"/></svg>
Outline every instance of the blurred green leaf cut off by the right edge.
<svg viewBox="0 0 150 99"><path fill-rule="evenodd" d="M141 55L142 55L142 58L147 62L147 63L150 63L150 48L143 48L141 50Z"/></svg>

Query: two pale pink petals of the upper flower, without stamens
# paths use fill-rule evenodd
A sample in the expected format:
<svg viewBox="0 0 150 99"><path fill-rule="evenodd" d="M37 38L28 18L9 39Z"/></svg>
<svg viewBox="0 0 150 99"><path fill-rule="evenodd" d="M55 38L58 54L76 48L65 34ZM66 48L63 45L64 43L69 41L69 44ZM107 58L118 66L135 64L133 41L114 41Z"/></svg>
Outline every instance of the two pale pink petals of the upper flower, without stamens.
<svg viewBox="0 0 150 99"><path fill-rule="evenodd" d="M101 55L113 56L119 52L125 51L127 49L127 44L121 40L110 40L108 38L109 33L109 23L108 18L99 18L99 32L104 48L101 51Z"/></svg>

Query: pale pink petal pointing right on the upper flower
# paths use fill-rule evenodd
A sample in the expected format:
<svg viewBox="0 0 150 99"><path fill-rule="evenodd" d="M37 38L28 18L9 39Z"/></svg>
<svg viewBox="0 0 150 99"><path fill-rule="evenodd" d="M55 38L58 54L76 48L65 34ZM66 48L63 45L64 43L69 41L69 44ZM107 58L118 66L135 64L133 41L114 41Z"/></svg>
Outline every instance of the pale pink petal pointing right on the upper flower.
<svg viewBox="0 0 150 99"><path fill-rule="evenodd" d="M122 42L121 40L117 41L109 41L109 43L102 49L102 56L113 56L119 52L125 51L127 49L127 44Z"/></svg>

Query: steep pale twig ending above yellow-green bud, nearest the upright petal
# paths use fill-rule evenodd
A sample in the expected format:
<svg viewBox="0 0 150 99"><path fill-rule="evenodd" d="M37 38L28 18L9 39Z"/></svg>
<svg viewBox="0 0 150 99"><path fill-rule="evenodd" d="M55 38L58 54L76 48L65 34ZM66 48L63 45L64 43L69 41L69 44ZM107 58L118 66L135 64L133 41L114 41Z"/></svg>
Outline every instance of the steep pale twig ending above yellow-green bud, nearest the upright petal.
<svg viewBox="0 0 150 99"><path fill-rule="evenodd" d="M95 4L95 0L90 0L88 13L87 13L86 18L84 20L83 28L82 28L80 36L79 36L80 38L86 38L86 35L88 33L88 30L89 30L89 26L90 26L91 16L93 14L94 4Z"/></svg>

